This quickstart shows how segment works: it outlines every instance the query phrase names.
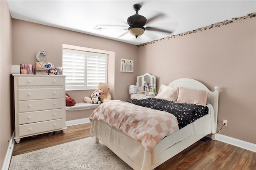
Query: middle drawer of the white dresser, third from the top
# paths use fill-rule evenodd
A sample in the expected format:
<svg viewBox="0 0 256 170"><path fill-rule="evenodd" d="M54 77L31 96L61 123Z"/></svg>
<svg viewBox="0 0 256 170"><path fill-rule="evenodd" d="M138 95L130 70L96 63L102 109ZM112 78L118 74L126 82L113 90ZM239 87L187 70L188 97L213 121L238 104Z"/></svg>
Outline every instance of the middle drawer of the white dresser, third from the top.
<svg viewBox="0 0 256 170"><path fill-rule="evenodd" d="M18 101L18 113L63 108L64 99Z"/></svg>

